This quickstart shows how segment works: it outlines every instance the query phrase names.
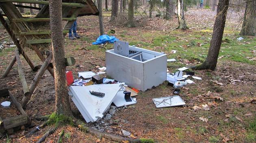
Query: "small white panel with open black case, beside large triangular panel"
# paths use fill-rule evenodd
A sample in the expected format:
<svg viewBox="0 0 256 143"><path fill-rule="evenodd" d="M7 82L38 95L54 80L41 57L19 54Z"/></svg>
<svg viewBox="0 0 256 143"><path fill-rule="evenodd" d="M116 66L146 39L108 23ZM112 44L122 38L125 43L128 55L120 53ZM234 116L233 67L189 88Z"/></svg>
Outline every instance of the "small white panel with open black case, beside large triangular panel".
<svg viewBox="0 0 256 143"><path fill-rule="evenodd" d="M116 107L122 107L124 105L132 105L137 103L132 97L130 98L132 99L132 101L126 102L126 100L124 99L124 91L119 91L115 96L113 103Z"/></svg>

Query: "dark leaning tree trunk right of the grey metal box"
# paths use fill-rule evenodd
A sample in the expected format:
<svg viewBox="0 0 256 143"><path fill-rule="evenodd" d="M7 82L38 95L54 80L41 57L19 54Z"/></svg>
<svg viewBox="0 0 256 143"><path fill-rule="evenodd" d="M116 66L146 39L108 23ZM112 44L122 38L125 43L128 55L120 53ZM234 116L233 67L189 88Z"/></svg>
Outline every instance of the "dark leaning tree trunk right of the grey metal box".
<svg viewBox="0 0 256 143"><path fill-rule="evenodd" d="M221 41L223 37L224 27L226 23L226 15L228 12L229 0L219 0L217 15L213 26L213 36L210 41L210 48L206 60L202 65L196 67L196 69L210 69L215 70L217 60L219 56L219 49L221 47Z"/></svg>

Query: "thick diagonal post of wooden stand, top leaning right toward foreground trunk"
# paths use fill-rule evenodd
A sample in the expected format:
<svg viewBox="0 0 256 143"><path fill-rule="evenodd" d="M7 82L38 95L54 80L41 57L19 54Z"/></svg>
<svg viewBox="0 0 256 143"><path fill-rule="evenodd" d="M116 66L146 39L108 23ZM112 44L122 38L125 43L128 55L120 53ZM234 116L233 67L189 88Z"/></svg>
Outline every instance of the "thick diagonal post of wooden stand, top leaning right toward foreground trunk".
<svg viewBox="0 0 256 143"><path fill-rule="evenodd" d="M35 88L37 87L37 84L39 83L41 77L43 76L44 72L46 71L46 68L49 67L48 65L51 63L52 60L52 53L51 52L46 52L48 55L46 60L44 61L43 65L41 65L41 68L37 72L35 78L33 79L33 82L29 86L29 95L24 96L22 99L22 107L26 108L26 104L31 98L31 95L33 94Z"/></svg>

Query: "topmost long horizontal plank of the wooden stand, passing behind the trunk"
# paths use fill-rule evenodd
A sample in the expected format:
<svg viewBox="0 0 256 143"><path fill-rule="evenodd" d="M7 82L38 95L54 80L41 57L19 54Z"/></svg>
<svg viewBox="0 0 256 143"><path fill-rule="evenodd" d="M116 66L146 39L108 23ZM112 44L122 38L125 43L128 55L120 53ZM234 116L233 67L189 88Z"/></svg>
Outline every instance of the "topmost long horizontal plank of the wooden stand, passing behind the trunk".
<svg viewBox="0 0 256 143"><path fill-rule="evenodd" d="M0 0L0 2L18 2L18 3L26 3L26 4L49 5L49 1L42 1L42 0ZM85 7L86 5L81 3L62 2L62 6Z"/></svg>

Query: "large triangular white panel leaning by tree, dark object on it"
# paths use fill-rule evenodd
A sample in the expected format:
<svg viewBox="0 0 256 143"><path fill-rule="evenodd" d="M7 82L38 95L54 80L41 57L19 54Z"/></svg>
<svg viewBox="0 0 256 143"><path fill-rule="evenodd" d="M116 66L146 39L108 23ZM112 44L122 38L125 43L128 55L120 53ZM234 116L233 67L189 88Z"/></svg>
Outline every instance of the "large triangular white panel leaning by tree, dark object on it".
<svg viewBox="0 0 256 143"><path fill-rule="evenodd" d="M123 84L94 84L90 86L70 86L69 95L86 122L96 122L113 102ZM89 90L105 93L103 98L91 95Z"/></svg>

